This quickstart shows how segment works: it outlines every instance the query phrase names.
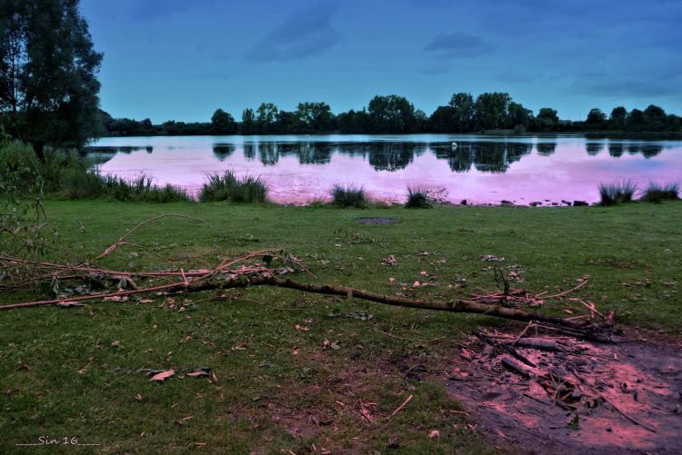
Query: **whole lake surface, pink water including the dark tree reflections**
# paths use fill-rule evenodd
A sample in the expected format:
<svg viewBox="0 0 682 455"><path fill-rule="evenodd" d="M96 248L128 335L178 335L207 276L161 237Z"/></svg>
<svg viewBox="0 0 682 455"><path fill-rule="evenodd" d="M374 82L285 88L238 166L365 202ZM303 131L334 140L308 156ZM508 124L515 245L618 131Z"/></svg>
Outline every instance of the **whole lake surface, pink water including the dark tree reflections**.
<svg viewBox="0 0 682 455"><path fill-rule="evenodd" d="M452 143L456 142L454 148ZM597 202L599 183L682 181L682 141L576 135L160 136L102 138L86 149L101 173L141 174L196 194L206 174L260 176L276 203L328 199L335 183L403 202L419 185L459 203Z"/></svg>

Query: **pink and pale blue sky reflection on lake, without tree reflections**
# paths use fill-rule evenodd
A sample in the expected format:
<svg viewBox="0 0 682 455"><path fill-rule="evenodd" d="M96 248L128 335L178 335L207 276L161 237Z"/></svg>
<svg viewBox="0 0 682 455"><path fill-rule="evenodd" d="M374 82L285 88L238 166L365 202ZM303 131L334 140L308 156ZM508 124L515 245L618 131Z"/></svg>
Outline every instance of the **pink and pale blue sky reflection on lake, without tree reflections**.
<svg viewBox="0 0 682 455"><path fill-rule="evenodd" d="M368 136L363 136L368 137ZM376 137L376 136L375 136ZM475 136L405 136L409 142L495 141L493 138ZM259 138L263 140L264 138ZM286 142L349 142L348 136L320 136L296 138L287 136ZM360 141L353 136L351 141ZM399 140L392 136L390 140ZM500 203L506 199L516 203L545 201L560 203L562 200L597 202L598 183L632 180L640 186L649 182L682 181L682 143L662 142L662 152L651 158L641 153L626 152L619 158L609 155L606 141L604 149L595 156L586 152L586 141L578 137L558 137L555 153L539 155L532 152L510 163L505 173L476 171L472 166L466 173L454 173L447 160L437 159L428 147L425 153L415 155L406 168L393 172L376 171L368 162L368 156L351 156L334 152L325 164L301 164L296 154L280 155L276 164L265 165L259 155L253 159L244 156L244 143L257 140L247 137L149 137L105 138L95 146L153 146L152 153L135 150L131 153L115 153L114 157L100 166L101 173L112 173L124 178L145 174L157 184L170 183L196 193L206 182L206 174L232 170L238 175L260 175L270 187L270 198L276 203L308 203L328 198L334 183L354 183L365 187L366 192L377 200L403 202L406 187L419 184L434 190L445 188L446 199L459 203ZM277 141L268 138L266 141ZM504 139L502 139L504 141ZM540 139L547 141L547 139ZM537 139L507 139L509 142L537 142ZM235 152L221 162L213 153L214 143L233 143ZM362 146L362 143L356 143ZM257 150L257 147L256 147ZM336 147L335 147L336 150Z"/></svg>

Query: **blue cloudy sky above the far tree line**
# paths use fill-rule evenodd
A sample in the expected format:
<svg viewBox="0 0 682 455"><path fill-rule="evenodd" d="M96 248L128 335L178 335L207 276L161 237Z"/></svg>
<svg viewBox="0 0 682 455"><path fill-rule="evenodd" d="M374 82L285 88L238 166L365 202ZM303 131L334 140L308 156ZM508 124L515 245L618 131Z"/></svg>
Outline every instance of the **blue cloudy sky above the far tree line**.
<svg viewBox="0 0 682 455"><path fill-rule="evenodd" d="M682 114L682 0L81 0L102 108L154 123L399 94L506 92L536 114Z"/></svg>

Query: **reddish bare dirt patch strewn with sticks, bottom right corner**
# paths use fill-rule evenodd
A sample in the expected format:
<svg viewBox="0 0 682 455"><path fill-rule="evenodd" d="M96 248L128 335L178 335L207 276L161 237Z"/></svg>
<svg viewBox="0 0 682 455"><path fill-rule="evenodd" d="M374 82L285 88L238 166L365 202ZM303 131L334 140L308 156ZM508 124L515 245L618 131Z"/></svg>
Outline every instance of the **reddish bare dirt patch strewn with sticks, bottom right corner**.
<svg viewBox="0 0 682 455"><path fill-rule="evenodd" d="M679 349L559 337L555 349L539 350L515 341L472 337L446 380L496 445L527 453L679 453Z"/></svg>

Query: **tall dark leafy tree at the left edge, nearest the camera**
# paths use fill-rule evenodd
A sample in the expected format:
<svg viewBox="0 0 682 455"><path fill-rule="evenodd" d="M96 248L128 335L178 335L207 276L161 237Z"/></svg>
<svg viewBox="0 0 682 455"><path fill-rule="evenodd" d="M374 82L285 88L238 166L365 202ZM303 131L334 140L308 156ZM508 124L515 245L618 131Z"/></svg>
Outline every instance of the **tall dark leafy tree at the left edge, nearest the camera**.
<svg viewBox="0 0 682 455"><path fill-rule="evenodd" d="M0 2L0 115L15 137L82 146L101 132L93 49L78 0Z"/></svg>

